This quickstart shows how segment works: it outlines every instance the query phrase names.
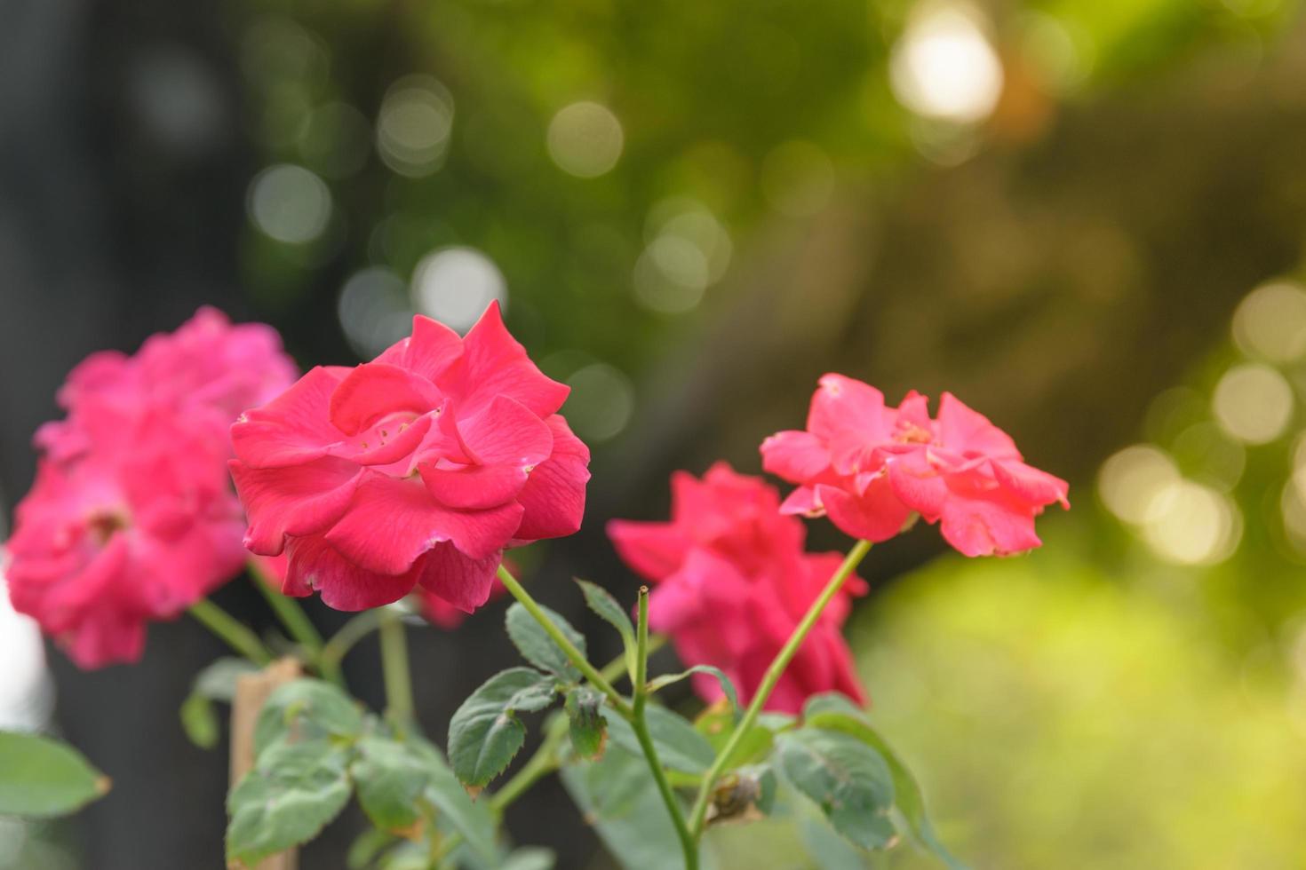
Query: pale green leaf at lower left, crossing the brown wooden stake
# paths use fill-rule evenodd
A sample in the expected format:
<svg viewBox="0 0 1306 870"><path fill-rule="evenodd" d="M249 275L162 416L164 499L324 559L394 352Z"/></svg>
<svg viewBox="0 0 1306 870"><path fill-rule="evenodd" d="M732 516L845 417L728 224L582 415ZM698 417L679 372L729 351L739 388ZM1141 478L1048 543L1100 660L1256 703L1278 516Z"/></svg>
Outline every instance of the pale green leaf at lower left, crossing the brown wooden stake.
<svg viewBox="0 0 1306 870"><path fill-rule="evenodd" d="M349 801L353 749L330 740L277 742L227 796L227 862L257 861L317 836Z"/></svg>

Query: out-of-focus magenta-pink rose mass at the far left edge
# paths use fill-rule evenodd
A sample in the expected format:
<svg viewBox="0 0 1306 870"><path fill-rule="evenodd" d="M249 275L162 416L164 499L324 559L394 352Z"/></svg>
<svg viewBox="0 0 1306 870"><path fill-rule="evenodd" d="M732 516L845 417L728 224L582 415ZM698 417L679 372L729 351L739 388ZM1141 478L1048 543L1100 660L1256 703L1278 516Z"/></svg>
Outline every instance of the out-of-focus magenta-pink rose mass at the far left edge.
<svg viewBox="0 0 1306 870"><path fill-rule="evenodd" d="M14 609L84 668L140 659L149 621L240 571L225 429L293 376L270 327L213 309L135 356L77 367L59 394L68 419L38 433L37 481L7 545Z"/></svg>

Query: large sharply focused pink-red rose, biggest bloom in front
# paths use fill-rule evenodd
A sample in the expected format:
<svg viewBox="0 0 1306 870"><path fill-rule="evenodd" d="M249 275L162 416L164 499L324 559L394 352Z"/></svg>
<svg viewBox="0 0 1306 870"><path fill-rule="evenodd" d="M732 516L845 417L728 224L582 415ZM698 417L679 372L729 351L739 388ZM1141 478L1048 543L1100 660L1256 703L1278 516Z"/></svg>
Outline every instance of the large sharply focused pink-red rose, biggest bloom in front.
<svg viewBox="0 0 1306 870"><path fill-rule="evenodd" d="M418 584L470 613L507 547L580 528L589 450L491 305L466 338L426 317L372 363L319 367L231 428L246 547L340 610Z"/></svg>

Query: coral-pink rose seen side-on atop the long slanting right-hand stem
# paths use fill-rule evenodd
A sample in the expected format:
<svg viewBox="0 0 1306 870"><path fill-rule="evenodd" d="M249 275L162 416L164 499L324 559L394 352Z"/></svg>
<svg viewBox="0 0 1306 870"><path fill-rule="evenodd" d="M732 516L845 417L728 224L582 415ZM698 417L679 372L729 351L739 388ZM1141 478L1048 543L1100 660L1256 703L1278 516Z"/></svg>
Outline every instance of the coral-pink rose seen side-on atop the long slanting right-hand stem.
<svg viewBox="0 0 1306 870"><path fill-rule="evenodd" d="M892 408L841 374L820 380L807 429L771 436L761 457L767 471L799 484L784 513L828 515L870 541L919 514L966 556L1021 553L1042 543L1034 517L1043 507L1070 507L1064 480L1025 464L1007 433L951 393L930 419L925 397L909 393Z"/></svg>

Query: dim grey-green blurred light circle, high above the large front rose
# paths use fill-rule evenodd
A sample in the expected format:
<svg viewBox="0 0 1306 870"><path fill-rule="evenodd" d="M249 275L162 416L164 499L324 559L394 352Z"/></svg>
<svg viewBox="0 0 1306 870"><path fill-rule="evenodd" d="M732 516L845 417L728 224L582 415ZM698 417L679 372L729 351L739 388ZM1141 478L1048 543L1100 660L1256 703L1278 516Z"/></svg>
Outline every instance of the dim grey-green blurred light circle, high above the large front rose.
<svg viewBox="0 0 1306 870"><path fill-rule="evenodd" d="M394 82L381 100L376 149L400 175L422 177L440 168L453 129L453 95L430 76Z"/></svg>

